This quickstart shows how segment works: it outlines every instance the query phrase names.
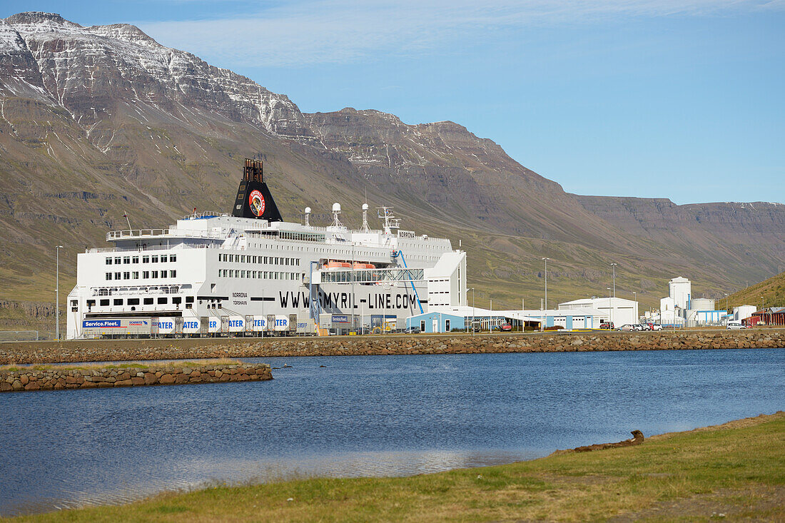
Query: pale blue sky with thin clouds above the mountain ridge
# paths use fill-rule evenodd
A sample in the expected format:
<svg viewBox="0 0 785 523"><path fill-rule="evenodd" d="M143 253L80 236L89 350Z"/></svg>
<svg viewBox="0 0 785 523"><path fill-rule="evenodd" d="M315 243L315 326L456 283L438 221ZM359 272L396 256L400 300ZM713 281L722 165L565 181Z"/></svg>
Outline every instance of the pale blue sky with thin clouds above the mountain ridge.
<svg viewBox="0 0 785 523"><path fill-rule="evenodd" d="M0 1L137 24L304 112L453 120L568 192L785 202L785 2Z"/></svg>

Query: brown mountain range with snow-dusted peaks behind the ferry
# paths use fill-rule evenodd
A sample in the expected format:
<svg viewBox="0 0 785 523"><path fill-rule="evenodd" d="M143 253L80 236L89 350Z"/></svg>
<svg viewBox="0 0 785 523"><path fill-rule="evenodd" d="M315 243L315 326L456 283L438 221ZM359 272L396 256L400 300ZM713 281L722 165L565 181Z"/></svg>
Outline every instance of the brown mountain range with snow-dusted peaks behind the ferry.
<svg viewBox="0 0 785 523"><path fill-rule="evenodd" d="M617 293L654 305L676 273L717 296L785 253L782 205L571 195L457 123L305 114L137 27L19 13L0 20L0 330L51 324L57 245L63 302L76 252L107 230L228 210L244 157L265 160L287 219L309 206L326 222L340 201L359 225L367 192L461 242L477 305L539 305L542 257L554 299L604 294L617 262Z"/></svg>

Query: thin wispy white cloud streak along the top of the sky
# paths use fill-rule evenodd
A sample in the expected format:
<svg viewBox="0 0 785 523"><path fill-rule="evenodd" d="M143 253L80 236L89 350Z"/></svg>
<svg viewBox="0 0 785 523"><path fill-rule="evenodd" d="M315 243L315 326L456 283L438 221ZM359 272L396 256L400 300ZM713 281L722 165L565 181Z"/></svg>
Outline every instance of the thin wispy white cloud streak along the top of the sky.
<svg viewBox="0 0 785 523"><path fill-rule="evenodd" d="M627 17L785 9L780 0L312 0L250 16L137 24L165 46L226 67L349 63L411 54L452 38L492 38L505 28Z"/></svg>

